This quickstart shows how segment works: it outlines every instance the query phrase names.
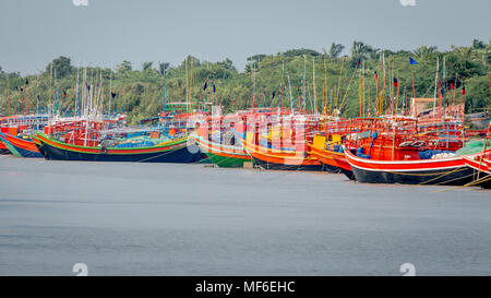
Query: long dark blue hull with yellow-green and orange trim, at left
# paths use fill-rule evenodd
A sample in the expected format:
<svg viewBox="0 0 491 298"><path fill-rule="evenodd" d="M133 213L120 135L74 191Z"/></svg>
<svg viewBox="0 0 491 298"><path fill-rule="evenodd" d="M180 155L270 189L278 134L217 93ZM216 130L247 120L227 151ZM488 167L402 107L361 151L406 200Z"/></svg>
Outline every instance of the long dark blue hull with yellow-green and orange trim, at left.
<svg viewBox="0 0 491 298"><path fill-rule="evenodd" d="M53 140L44 133L36 133L33 139L46 159L56 160L194 163L202 156L199 147L188 145L188 138L147 147L80 146Z"/></svg>

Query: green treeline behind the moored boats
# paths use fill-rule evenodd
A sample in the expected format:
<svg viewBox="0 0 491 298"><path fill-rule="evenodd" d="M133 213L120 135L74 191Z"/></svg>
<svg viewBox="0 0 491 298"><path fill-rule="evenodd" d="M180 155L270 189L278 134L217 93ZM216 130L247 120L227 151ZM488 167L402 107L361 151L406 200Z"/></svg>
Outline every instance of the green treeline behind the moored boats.
<svg viewBox="0 0 491 298"><path fill-rule="evenodd" d="M318 111L340 110L343 116L373 115L385 109L379 99L384 90L390 93L397 80L400 108L409 98L433 97L436 60L445 57L447 97L460 100L466 90L466 111L490 108L491 44L474 40L467 47L452 46L447 51L420 46L415 50L381 50L362 41L354 41L349 55L342 56L345 46L332 44L321 51L291 49L276 55L254 55L247 59L244 71L239 72L230 59L209 62L188 56L179 65L167 62L144 62L135 67L122 61L116 69L87 67L87 81L104 86L104 109L109 109L110 91L115 94L111 110L124 111L129 120L156 116L163 108L163 73L165 73L166 102L212 102L225 111L252 106L306 107ZM385 63L381 62L384 57ZM417 64L409 63L409 57ZM9 76L9 97L7 91ZM37 74L22 76L7 73L0 67L0 114L43 111L55 102L61 103L63 114L73 114L76 82L82 80L82 68L70 58L59 57ZM385 78L385 79L384 79ZM282 85L283 84L283 85ZM206 87L205 87L206 85ZM363 105L360 105L360 100Z"/></svg>

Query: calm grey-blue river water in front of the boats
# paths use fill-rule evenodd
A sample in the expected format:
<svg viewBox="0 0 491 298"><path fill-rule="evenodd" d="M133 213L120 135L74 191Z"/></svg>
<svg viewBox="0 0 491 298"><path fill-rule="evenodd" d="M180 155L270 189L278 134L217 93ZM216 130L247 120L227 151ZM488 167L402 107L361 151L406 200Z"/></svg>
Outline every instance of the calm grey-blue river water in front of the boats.
<svg viewBox="0 0 491 298"><path fill-rule="evenodd" d="M0 275L491 275L491 192L0 156Z"/></svg>

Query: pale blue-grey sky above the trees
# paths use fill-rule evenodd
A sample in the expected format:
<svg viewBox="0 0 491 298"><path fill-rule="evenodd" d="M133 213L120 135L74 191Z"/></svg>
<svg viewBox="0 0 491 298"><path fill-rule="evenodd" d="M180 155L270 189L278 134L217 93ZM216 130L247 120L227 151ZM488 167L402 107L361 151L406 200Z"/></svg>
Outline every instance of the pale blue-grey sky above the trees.
<svg viewBox="0 0 491 298"><path fill-rule="evenodd" d="M34 73L52 58L113 68L130 60L168 61L188 53L241 70L246 58L291 48L415 49L491 38L490 0L1 0L0 65Z"/></svg>

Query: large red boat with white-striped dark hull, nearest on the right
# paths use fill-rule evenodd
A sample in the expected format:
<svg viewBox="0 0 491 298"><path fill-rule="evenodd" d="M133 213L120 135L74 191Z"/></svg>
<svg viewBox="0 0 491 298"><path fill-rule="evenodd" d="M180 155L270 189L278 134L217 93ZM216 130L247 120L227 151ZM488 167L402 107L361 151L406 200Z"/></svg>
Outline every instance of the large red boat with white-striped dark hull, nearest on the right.
<svg viewBox="0 0 491 298"><path fill-rule="evenodd" d="M472 169L465 158L478 154L458 156L452 150L462 140L436 139L433 135L415 134L412 120L392 122L392 128L369 130L351 134L345 143L345 155L354 175L364 183L405 184L466 184L472 181ZM362 134L362 135L361 135Z"/></svg>

